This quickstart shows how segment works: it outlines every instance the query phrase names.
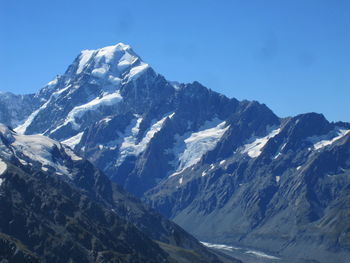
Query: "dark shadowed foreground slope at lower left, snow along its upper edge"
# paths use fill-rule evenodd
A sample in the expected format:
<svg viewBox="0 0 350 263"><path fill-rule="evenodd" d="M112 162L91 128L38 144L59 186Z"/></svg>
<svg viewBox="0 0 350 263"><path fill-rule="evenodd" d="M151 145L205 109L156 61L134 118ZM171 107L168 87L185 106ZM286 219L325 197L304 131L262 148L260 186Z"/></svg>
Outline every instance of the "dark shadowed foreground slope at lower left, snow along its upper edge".
<svg viewBox="0 0 350 263"><path fill-rule="evenodd" d="M22 256L15 247L33 262L177 261L157 240L192 251L195 262L223 262L68 147L4 125L0 139L0 232L17 240L6 241L7 260Z"/></svg>

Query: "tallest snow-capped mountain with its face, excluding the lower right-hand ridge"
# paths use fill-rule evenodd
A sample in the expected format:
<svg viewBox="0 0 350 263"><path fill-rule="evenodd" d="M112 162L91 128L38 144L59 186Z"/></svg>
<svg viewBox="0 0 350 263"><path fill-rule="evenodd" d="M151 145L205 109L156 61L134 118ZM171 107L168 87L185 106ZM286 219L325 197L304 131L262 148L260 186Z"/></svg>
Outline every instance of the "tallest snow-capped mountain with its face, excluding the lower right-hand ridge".
<svg viewBox="0 0 350 263"><path fill-rule="evenodd" d="M223 119L238 104L199 83L166 81L123 44L82 51L63 76L35 97L42 105L17 132L60 140L139 196L212 149L228 128ZM192 115L193 107L201 112ZM177 127L170 129L168 142L152 149L172 123ZM154 176L151 166L159 161L163 167Z"/></svg>

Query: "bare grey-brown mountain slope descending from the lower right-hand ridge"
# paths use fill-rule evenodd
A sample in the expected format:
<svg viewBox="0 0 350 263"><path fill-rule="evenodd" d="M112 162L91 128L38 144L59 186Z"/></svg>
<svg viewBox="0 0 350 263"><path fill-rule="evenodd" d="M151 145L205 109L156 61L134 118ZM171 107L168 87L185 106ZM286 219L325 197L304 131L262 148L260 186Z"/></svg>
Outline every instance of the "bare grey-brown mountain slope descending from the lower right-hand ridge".
<svg viewBox="0 0 350 263"><path fill-rule="evenodd" d="M145 200L202 240L346 262L350 130L301 115L222 158L233 141L161 182Z"/></svg>

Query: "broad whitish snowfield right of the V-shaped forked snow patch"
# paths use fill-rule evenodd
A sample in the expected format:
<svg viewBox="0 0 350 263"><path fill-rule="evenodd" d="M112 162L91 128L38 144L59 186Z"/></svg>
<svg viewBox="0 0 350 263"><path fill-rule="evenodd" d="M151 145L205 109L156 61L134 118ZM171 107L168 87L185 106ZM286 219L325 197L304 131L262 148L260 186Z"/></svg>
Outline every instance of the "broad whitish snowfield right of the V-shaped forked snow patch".
<svg viewBox="0 0 350 263"><path fill-rule="evenodd" d="M175 162L172 164L175 172L170 176L175 176L186 168L198 163L202 156L215 148L229 126L226 122L215 119L207 121L198 132L187 133L183 136L176 136L176 143L173 149Z"/></svg>

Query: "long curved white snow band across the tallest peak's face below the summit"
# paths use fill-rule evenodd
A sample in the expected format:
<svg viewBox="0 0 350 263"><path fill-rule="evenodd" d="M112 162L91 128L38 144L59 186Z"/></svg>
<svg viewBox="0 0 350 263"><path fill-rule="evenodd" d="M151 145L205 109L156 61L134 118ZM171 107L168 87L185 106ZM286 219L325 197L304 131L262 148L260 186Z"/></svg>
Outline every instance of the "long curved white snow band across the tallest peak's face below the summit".
<svg viewBox="0 0 350 263"><path fill-rule="evenodd" d="M74 129L79 129L79 125L76 123L77 118L81 118L87 111L96 110L101 106L111 106L114 104L117 104L122 100L122 96L120 95L119 91L111 94L104 95L103 97L98 97L93 99L92 101L74 107L68 114L64 124L67 125L68 123L72 123Z"/></svg>

